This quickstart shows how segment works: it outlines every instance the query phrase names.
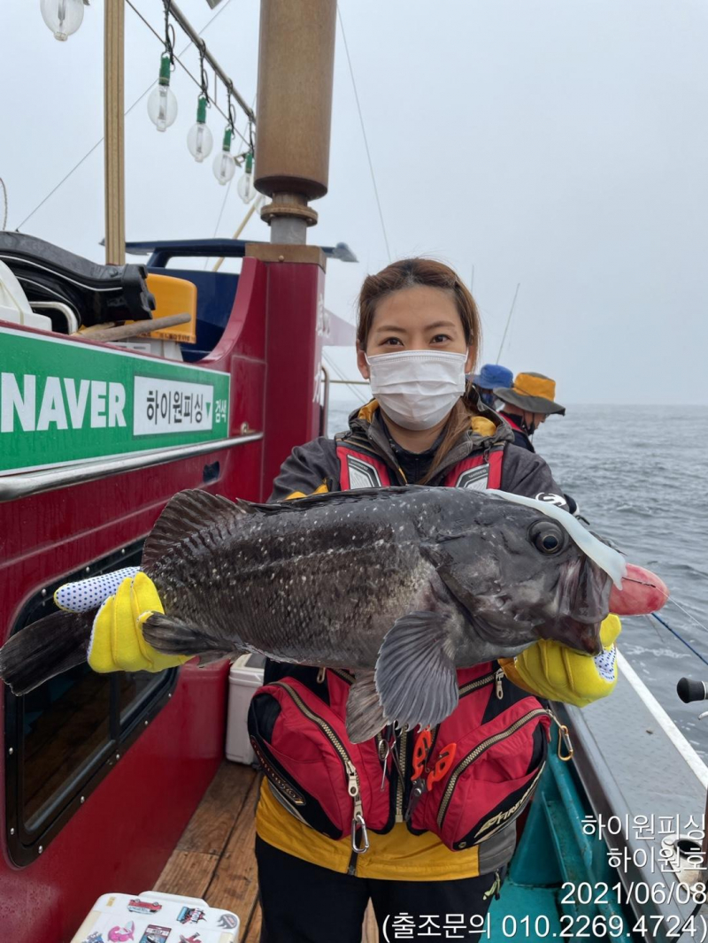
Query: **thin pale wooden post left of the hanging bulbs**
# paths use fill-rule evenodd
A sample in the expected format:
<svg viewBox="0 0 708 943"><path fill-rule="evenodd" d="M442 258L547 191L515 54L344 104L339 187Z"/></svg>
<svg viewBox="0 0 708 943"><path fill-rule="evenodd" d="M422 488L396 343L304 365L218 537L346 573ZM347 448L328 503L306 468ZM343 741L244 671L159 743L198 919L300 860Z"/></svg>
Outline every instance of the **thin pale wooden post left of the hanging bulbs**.
<svg viewBox="0 0 708 943"><path fill-rule="evenodd" d="M126 264L124 161L124 0L104 0L104 190L106 264Z"/></svg>

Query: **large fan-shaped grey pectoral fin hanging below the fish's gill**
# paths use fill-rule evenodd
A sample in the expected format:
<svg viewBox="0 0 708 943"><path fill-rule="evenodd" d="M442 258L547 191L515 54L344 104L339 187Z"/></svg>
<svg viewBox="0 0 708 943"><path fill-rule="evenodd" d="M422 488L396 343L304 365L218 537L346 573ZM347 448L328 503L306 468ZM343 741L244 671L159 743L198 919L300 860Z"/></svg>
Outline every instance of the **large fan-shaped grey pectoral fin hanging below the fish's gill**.
<svg viewBox="0 0 708 943"><path fill-rule="evenodd" d="M389 721L432 726L457 706L453 620L437 612L412 612L386 633L376 663L376 689Z"/></svg>

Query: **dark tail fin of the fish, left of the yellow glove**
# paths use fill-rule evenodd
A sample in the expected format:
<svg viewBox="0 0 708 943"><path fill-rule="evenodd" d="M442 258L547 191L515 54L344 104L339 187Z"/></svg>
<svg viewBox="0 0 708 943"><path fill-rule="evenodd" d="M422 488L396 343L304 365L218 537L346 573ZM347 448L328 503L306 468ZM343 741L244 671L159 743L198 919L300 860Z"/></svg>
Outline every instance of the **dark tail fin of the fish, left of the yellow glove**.
<svg viewBox="0 0 708 943"><path fill-rule="evenodd" d="M13 694L40 687L86 661L95 612L54 612L8 638L0 649L0 678Z"/></svg>

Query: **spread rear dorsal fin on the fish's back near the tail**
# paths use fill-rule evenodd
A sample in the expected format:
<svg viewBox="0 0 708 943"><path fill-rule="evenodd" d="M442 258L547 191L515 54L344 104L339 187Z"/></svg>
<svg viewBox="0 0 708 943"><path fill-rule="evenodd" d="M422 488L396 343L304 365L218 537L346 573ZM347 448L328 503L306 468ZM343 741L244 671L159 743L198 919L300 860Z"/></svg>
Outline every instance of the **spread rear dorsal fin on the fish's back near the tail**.
<svg viewBox="0 0 708 943"><path fill-rule="evenodd" d="M220 494L195 489L180 491L171 498L155 523L143 548L143 570L149 571L175 545L217 529L229 529L238 518L257 513L247 501L229 501Z"/></svg>

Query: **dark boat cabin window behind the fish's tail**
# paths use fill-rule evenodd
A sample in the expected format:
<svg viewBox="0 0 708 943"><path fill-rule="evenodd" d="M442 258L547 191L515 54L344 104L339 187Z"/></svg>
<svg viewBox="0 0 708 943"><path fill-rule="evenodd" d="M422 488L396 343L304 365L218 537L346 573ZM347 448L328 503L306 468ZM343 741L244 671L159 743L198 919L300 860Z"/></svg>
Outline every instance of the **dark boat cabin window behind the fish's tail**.
<svg viewBox="0 0 708 943"><path fill-rule="evenodd" d="M137 566L143 542L43 587L13 627L22 631L55 610L60 583ZM101 675L80 665L16 698L5 695L8 849L28 864L106 776L120 753L166 703L176 670ZM11 753L9 753L11 751Z"/></svg>

